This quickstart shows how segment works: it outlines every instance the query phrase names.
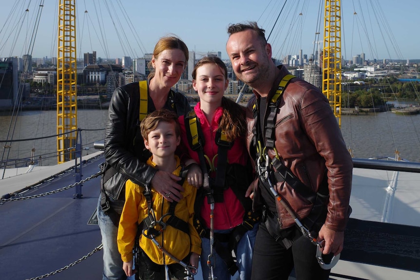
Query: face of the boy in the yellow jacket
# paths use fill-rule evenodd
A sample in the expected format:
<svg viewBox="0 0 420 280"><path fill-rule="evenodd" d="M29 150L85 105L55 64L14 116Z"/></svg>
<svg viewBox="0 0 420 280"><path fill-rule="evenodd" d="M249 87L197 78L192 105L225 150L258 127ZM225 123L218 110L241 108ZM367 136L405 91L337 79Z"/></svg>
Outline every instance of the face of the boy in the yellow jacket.
<svg viewBox="0 0 420 280"><path fill-rule="evenodd" d="M148 139L144 139L144 146L152 152L153 158L173 157L180 141L181 137L175 134L175 124L160 121L148 134Z"/></svg>

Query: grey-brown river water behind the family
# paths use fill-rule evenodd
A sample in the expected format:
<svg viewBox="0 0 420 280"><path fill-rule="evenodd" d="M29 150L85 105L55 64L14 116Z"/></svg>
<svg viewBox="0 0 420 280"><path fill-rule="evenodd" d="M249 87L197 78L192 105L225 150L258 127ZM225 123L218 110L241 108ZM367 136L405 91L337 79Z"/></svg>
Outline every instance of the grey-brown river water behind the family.
<svg viewBox="0 0 420 280"><path fill-rule="evenodd" d="M80 129L103 129L107 120L107 110L78 110L77 124ZM56 111L26 111L17 119L13 139L29 139L57 134ZM0 116L0 140L6 140L10 126L10 116ZM420 115L399 115L392 112L379 112L369 115L343 115L342 133L348 149L355 158L395 157L395 151L411 162L420 162ZM89 150L83 154L93 153L95 141L103 140L104 131L82 131L83 147ZM9 138L10 139L10 136ZM8 143L9 144L9 143ZM40 165L57 163L55 151L56 137L14 142L10 148L3 148L3 160L9 153L9 159L31 156L35 148L35 158L42 159ZM1 159L1 156L0 156Z"/></svg>

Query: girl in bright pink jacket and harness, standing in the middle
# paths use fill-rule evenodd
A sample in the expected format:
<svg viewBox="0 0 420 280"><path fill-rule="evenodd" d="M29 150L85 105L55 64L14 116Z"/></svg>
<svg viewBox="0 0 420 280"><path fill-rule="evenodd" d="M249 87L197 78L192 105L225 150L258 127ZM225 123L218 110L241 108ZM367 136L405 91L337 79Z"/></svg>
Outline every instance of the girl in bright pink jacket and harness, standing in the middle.
<svg viewBox="0 0 420 280"><path fill-rule="evenodd" d="M245 197L252 179L247 178L247 174L252 171L247 169L245 108L223 96L229 84L227 73L225 63L218 57L204 57L195 65L192 86L198 92L200 102L194 107L195 114L191 112L188 116L180 117L181 140L188 149L184 154L188 153L196 162L207 162L207 170L203 170L203 173L208 172L210 177L210 191L203 188L206 186L200 188L194 207L195 214L198 214L196 224L202 225L196 227L202 237L203 278L208 279L209 274L212 274L212 279L217 277L217 280L229 280L230 274L238 269L240 279L248 280L258 228L257 223L250 220L258 219L255 218L258 215L249 211L251 201ZM191 128L191 120L195 117L198 117L196 130ZM194 147L191 140L194 138L191 131L197 130L201 131L197 136L201 138L200 143L204 143L202 149ZM194 186L198 185L197 180L201 180L194 174L189 174L187 179ZM210 251L209 195L215 201L214 251ZM250 226L244 226L244 220ZM236 263L231 256L232 249L237 258ZM214 257L209 258L211 254Z"/></svg>

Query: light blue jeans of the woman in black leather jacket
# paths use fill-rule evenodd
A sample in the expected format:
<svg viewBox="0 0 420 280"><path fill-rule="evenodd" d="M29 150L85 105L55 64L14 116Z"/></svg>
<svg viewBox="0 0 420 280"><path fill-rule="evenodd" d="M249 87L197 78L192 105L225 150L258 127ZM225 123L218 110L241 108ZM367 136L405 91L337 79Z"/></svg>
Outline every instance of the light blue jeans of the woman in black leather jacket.
<svg viewBox="0 0 420 280"><path fill-rule="evenodd" d="M111 198L109 198L109 200L111 207L115 210L118 217L121 216L122 208L124 207L124 201L115 201ZM118 252L118 246L116 243L118 226L115 226L111 220L111 217L102 211L100 206L100 196L96 210L103 244L102 251L104 270L102 280L134 280L134 276L127 278L124 270L122 269L121 255Z"/></svg>

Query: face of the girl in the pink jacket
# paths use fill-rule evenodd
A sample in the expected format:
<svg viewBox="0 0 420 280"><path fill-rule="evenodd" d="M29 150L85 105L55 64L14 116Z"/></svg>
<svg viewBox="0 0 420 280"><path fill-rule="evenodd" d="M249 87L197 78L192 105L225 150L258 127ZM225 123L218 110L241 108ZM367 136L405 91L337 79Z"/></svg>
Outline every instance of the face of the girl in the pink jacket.
<svg viewBox="0 0 420 280"><path fill-rule="evenodd" d="M228 84L224 71L215 63L198 67L192 80L192 87L198 92L201 103L216 103L219 106Z"/></svg>

